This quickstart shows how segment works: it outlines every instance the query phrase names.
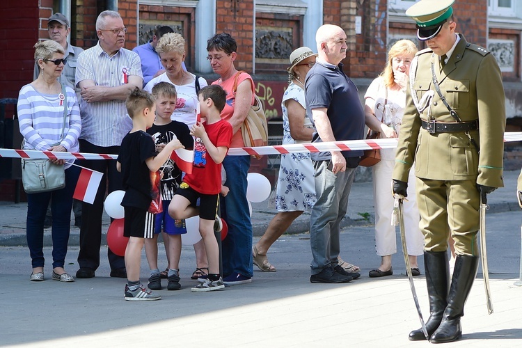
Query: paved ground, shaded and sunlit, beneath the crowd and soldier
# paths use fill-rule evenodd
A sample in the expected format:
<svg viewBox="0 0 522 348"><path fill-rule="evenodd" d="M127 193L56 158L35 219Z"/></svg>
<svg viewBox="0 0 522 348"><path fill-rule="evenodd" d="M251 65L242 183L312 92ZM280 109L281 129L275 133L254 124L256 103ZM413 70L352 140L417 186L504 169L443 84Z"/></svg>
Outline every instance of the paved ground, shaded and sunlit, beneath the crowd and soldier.
<svg viewBox="0 0 522 348"><path fill-rule="evenodd" d="M522 347L522 287L519 280L522 212L516 205L517 172L506 172L506 185L489 196L488 258L493 296L487 314L482 271L470 292L462 319L464 337L452 347ZM106 247L96 278L74 283L51 280L50 262L42 283L29 281L26 246L0 246L0 345L5 347L124 347L128 345L195 347L428 347L410 342L407 334L420 324L404 275L400 251L393 257L394 275L367 277L379 265L374 251L371 183L356 183L347 223L341 234L341 255L361 267L361 278L341 285L312 284L310 244L306 232L283 235L269 251L274 273L255 269L253 282L221 292L192 293L192 248L182 248L180 291L161 290L161 301L129 303L123 299L125 280L109 278ZM0 205L0 226L22 229L24 205ZM266 206L266 203L265 203ZM255 207L253 221L269 209ZM22 216L18 216L18 215ZM273 216L273 212L271 216ZM362 214L362 215L361 215ZM353 218L353 219L352 219ZM21 219L21 220L19 220ZM262 223L271 219L267 216ZM306 219L306 216L303 216ZM6 221L14 221L6 223ZM6 227L7 226L7 227ZM4 233L5 232L5 233ZM74 230L73 230L74 232ZM18 232L23 235L24 232ZM13 239L13 238L10 238ZM258 237L254 238L254 242ZM159 248L159 260L165 260ZM45 248L47 260L52 248ZM71 245L65 269L77 269L78 247ZM423 270L422 260L420 269ZM164 263L160 262L160 266ZM148 270L142 257L142 282ZM414 281L422 314L428 317L424 271ZM164 286L166 282L164 280Z"/></svg>

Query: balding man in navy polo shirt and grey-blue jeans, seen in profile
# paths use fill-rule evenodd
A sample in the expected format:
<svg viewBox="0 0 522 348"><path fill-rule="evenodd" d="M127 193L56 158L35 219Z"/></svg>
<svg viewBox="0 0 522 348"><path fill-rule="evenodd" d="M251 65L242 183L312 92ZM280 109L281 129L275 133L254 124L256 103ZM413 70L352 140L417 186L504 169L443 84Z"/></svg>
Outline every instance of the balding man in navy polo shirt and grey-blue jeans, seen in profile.
<svg viewBox="0 0 522 348"><path fill-rule="evenodd" d="M314 142L363 139L364 110L354 83L342 72L346 33L325 24L315 34L317 61L306 75L306 114ZM351 182L363 151L312 154L317 203L310 216L311 283L347 283L358 278L338 264L340 222L347 212Z"/></svg>

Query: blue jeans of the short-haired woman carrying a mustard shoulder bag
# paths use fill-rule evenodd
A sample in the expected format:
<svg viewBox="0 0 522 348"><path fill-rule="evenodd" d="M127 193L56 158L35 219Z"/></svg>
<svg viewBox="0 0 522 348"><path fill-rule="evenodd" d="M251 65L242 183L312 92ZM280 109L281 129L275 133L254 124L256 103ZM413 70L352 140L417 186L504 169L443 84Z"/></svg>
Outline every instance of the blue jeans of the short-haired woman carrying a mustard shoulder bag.
<svg viewBox="0 0 522 348"><path fill-rule="evenodd" d="M246 200L250 156L226 156L223 168L227 173L225 186L230 189L226 197L221 197L221 217L228 225L228 235L222 244L223 276L239 273L251 277L253 235Z"/></svg>

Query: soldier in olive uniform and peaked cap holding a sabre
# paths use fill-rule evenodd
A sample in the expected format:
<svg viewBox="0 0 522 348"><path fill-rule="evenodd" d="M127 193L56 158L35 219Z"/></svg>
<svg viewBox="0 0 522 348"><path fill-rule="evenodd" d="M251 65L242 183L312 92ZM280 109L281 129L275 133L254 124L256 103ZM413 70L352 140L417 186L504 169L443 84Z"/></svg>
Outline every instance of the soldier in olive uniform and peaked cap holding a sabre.
<svg viewBox="0 0 522 348"><path fill-rule="evenodd" d="M415 163L432 342L461 337L460 318L477 274L481 194L503 187L505 96L498 64L455 33L454 0L421 0L406 10L427 42L413 59L393 171L406 196ZM450 283L448 237L457 258ZM422 330L410 340L425 340Z"/></svg>

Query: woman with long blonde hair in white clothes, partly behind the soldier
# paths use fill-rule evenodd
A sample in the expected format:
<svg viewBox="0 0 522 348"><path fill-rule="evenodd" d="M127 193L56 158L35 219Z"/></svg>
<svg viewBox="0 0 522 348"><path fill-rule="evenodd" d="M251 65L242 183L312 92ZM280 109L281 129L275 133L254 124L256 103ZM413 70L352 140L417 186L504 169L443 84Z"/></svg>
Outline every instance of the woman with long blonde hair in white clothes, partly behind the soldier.
<svg viewBox="0 0 522 348"><path fill-rule="evenodd" d="M416 45L410 40L399 40L390 48L383 72L372 81L365 94L365 122L380 138L397 138L404 106L406 86ZM375 248L381 256L381 265L370 271L370 278L393 274L391 255L397 253L395 226L391 224L393 196L391 176L395 164L395 149L381 149L381 161L372 167L375 206ZM413 276L420 270L417 256L423 253L423 237L419 228L420 215L415 195L415 175L408 180L408 200L404 201L406 246Z"/></svg>

